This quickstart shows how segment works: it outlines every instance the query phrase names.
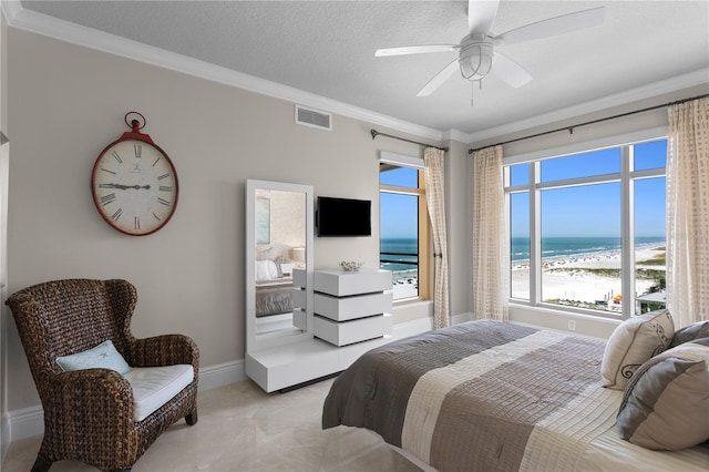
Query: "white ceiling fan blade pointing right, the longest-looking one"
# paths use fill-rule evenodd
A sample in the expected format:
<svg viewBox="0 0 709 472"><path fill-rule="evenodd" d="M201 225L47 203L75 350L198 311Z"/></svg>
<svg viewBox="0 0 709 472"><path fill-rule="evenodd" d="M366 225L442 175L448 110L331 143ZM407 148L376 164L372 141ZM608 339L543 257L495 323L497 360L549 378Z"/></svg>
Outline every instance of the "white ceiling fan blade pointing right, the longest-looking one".
<svg viewBox="0 0 709 472"><path fill-rule="evenodd" d="M605 16L604 7L598 7L537 21L496 35L494 38L495 45L513 44L599 27L603 24Z"/></svg>

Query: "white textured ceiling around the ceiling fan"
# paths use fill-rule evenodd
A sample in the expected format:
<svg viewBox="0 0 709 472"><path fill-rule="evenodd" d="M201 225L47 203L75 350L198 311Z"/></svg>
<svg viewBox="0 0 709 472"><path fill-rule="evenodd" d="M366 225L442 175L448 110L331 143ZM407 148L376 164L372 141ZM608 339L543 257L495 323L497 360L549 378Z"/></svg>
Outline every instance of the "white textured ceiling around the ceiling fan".
<svg viewBox="0 0 709 472"><path fill-rule="evenodd" d="M502 1L492 33L603 6L603 27L503 45L534 80L460 75L417 92L455 52L374 58L378 48L452 43L467 2L23 1L73 23L199 59L403 122L466 134L702 71L709 83L709 2ZM474 105L471 106L471 93Z"/></svg>

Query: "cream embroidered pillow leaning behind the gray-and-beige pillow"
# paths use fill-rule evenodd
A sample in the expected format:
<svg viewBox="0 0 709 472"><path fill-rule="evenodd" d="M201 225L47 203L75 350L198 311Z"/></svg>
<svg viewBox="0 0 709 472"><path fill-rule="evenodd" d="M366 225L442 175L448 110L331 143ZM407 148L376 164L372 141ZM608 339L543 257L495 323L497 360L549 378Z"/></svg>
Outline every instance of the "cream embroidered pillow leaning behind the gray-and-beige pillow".
<svg viewBox="0 0 709 472"><path fill-rule="evenodd" d="M667 309L623 321L610 335L600 362L603 386L624 390L628 379L649 358L667 349L675 324Z"/></svg>

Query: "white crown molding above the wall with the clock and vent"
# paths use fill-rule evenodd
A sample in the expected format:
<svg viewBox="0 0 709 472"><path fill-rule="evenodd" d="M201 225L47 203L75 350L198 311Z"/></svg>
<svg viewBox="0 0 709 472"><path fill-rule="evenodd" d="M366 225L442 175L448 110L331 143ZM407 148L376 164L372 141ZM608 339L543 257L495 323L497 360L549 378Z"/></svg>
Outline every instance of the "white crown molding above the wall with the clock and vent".
<svg viewBox="0 0 709 472"><path fill-rule="evenodd" d="M182 54L154 48L115 34L82 27L58 18L49 17L22 8L19 1L2 1L2 10L12 28L45 35L60 41L70 42L97 51L107 52L138 62L157 65L175 72L206 79L261 95L298 103L325 112L386 126L403 133L442 141L443 133L415 123L398 120L370 110L327 99L299 89L236 72L219 65L210 64Z"/></svg>

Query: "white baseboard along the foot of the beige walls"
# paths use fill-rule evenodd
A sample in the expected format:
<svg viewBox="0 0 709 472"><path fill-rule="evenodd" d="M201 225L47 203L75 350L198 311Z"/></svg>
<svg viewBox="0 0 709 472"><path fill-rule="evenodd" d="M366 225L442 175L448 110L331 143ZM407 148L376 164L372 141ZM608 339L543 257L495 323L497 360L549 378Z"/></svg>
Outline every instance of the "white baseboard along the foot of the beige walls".
<svg viewBox="0 0 709 472"><path fill-rule="evenodd" d="M455 315L451 318L453 325L470 319L470 314ZM393 326L392 338L401 339L409 336L433 329L431 318L420 318L413 321L397 324ZM246 380L244 359L207 366L199 369L199 391L216 389L229 383ZM31 435L41 434L44 431L44 413L41 406L13 410L2 418L2 456L10 442ZM7 444L4 444L7 442Z"/></svg>

